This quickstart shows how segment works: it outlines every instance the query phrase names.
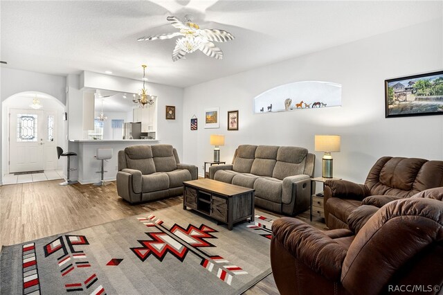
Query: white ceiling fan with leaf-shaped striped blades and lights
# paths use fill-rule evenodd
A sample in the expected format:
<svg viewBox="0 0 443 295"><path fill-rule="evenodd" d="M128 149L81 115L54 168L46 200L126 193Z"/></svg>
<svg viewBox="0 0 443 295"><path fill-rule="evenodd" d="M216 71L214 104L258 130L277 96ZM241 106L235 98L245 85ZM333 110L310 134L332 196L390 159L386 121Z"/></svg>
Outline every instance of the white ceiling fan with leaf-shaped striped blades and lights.
<svg viewBox="0 0 443 295"><path fill-rule="evenodd" d="M171 39L173 37L182 36L177 39L174 51L172 51L172 60L177 62L186 53L192 53L199 49L209 57L214 57L217 60L223 58L223 52L220 48L215 46L213 42L228 42L235 37L226 30L217 29L201 29L199 25L192 22L190 15L185 16L185 21L180 21L177 17L168 17L168 21L174 28L180 31L175 33L166 33L161 35L146 36L138 38L137 41L149 41L156 39Z"/></svg>

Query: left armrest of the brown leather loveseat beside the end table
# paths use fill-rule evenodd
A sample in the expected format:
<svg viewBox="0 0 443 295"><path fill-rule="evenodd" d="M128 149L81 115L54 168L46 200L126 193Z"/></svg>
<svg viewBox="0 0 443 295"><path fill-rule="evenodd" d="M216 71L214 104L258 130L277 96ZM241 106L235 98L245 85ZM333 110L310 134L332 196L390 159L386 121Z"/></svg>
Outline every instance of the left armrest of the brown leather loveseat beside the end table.
<svg viewBox="0 0 443 295"><path fill-rule="evenodd" d="M340 199L363 200L370 195L369 189L364 184L356 184L352 181L327 179L325 181L325 202L331 197Z"/></svg>

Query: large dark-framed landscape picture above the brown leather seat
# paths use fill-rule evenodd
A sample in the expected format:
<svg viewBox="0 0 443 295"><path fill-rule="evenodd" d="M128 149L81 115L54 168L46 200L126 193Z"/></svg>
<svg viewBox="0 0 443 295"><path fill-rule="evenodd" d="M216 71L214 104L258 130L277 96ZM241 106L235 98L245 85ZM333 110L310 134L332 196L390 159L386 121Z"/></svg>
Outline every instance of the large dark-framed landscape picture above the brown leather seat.
<svg viewBox="0 0 443 295"><path fill-rule="evenodd" d="M443 71L385 80L386 118L443 114Z"/></svg>

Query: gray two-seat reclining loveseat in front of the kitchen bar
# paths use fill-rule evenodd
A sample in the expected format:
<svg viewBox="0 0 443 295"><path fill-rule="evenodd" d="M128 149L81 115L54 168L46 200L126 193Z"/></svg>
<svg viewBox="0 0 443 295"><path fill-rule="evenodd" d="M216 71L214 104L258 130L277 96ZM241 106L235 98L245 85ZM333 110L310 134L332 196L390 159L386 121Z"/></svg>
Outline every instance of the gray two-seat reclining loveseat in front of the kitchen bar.
<svg viewBox="0 0 443 295"><path fill-rule="evenodd" d="M172 145L133 145L118 152L117 193L129 203L183 195L197 167L181 164Z"/></svg>

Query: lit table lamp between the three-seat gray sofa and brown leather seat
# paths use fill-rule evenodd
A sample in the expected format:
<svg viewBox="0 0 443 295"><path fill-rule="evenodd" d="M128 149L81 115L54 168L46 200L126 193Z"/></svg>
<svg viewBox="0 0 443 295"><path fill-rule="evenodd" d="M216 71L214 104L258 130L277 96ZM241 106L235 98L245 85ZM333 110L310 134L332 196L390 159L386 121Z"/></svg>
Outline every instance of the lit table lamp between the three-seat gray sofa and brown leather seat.
<svg viewBox="0 0 443 295"><path fill-rule="evenodd" d="M331 152L340 152L340 135L316 135L316 152L325 152L323 155L321 177L332 178Z"/></svg>

